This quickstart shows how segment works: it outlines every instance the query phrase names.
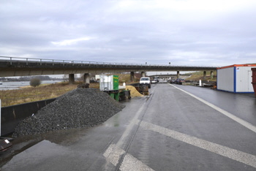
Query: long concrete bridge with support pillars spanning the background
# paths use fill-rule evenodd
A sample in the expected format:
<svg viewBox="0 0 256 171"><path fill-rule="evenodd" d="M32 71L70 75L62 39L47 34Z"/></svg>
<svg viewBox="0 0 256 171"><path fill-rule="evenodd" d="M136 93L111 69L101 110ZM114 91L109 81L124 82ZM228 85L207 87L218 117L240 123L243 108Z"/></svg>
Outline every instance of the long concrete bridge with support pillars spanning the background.
<svg viewBox="0 0 256 171"><path fill-rule="evenodd" d="M131 81L134 73L141 72L171 72L176 71L206 71L217 70L214 66L173 66L152 64L126 64L95 61L70 61L42 58L18 58L0 56L0 77L28 76L28 75L69 75L69 83L75 81L75 74L84 74L84 81L89 83L89 74L130 72Z"/></svg>

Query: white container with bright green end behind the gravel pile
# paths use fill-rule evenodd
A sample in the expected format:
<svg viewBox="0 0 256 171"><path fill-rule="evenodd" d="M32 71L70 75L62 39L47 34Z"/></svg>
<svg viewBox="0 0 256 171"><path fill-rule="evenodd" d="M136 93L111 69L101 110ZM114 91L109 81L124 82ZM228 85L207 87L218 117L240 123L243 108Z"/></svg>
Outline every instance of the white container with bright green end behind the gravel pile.
<svg viewBox="0 0 256 171"><path fill-rule="evenodd" d="M99 90L100 91L118 91L118 75L100 75Z"/></svg>

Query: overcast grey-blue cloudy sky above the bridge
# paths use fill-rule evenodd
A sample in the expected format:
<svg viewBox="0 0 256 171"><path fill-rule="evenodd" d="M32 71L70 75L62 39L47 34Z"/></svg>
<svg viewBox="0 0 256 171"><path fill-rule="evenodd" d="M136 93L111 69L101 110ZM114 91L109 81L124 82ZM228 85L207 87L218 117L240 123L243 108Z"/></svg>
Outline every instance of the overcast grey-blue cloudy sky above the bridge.
<svg viewBox="0 0 256 171"><path fill-rule="evenodd" d="M255 0L1 0L0 56L256 63Z"/></svg>

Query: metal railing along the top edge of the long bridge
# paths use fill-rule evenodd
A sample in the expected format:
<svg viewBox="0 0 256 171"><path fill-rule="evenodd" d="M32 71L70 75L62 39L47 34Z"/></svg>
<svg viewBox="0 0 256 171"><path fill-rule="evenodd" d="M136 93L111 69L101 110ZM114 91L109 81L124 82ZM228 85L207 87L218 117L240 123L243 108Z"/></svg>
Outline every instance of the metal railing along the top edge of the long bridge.
<svg viewBox="0 0 256 171"><path fill-rule="evenodd" d="M118 65L118 66L173 66L170 64L160 65L160 64L128 64L128 63L111 63L111 62L98 62L98 61L71 61L71 60L59 60L59 59L46 59L46 58L21 58L21 57L11 57L11 56L0 56L0 61L9 61L12 65L12 62L17 61L26 61L26 65L29 65L29 62L39 62L42 63L52 63L54 64L97 64L97 65ZM178 67L178 66L175 66ZM186 67L186 66L181 66ZM197 68L215 68L215 66L187 66L187 67L197 67ZM216 66L217 68L217 66Z"/></svg>

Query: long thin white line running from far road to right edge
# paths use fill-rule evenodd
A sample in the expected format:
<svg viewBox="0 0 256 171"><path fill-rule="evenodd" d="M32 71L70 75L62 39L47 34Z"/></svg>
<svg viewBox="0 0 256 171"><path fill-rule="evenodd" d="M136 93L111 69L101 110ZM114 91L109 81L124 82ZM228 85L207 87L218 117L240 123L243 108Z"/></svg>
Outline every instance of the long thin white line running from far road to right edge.
<svg viewBox="0 0 256 171"><path fill-rule="evenodd" d="M170 86L173 86L173 85L170 84ZM256 126L252 125L252 123L249 123L249 122L247 122L247 121L244 121L243 119L238 118L236 115L233 115L233 114L227 112L226 110L222 110L221 108L215 106L214 104L211 104L211 103L209 103L209 102L206 102L206 100L201 99L200 97L195 96L194 94L190 94L189 92L184 91L184 90L182 90L181 88L178 88L178 87L176 87L176 86L173 86L173 87L177 88L177 89L180 90L180 91L183 91L183 92L186 93L186 94L189 94L190 96L194 97L195 99L199 100L200 102L203 102L204 104L207 104L209 107L214 108L214 110L219 111L219 113L222 113L223 115L226 115L228 118L233 119L233 121L236 121L236 122L240 123L242 126L245 126L247 129L250 129L250 130L252 130L252 132L255 132L255 133L256 133Z"/></svg>

